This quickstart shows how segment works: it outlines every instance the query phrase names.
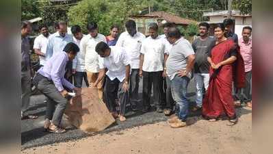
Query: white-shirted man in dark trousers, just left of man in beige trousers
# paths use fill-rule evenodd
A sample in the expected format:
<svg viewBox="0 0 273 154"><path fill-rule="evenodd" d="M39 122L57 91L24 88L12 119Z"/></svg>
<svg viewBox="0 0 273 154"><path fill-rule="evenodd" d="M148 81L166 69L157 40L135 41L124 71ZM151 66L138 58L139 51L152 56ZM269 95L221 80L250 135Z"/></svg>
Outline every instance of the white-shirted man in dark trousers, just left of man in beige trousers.
<svg viewBox="0 0 273 154"><path fill-rule="evenodd" d="M83 38L83 36L85 36L81 33L81 27L79 27L79 25L73 25L71 27L71 32L73 34L73 41L79 47L80 46L79 44L81 42L81 38ZM86 68L85 68L85 64L84 64L83 52L79 51L79 53L77 53L75 59L73 60L73 67L72 68L73 68L75 87L81 88L82 83L83 83L83 79L86 82L86 86L89 87L88 79L87 79L87 75L86 75Z"/></svg>

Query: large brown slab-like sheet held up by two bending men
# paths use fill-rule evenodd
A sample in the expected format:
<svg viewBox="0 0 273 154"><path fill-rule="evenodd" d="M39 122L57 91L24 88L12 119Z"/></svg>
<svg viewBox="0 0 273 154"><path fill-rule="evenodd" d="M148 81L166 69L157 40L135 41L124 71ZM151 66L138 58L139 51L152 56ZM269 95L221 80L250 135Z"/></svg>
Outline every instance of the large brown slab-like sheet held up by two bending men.
<svg viewBox="0 0 273 154"><path fill-rule="evenodd" d="M65 114L72 125L86 132L102 131L115 122L95 88L82 88L80 96L70 99Z"/></svg>

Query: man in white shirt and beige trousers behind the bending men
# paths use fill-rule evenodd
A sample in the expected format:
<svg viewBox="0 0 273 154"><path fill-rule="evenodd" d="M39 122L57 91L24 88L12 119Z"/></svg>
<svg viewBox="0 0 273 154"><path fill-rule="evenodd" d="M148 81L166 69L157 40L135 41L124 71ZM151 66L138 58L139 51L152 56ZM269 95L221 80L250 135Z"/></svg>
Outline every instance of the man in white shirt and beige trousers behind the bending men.
<svg viewBox="0 0 273 154"><path fill-rule="evenodd" d="M89 86L92 86L99 76L99 55L96 53L96 44L106 42L105 36L98 33L96 23L88 23L88 35L81 39L80 50L85 57L85 68L88 77ZM99 99L103 99L103 81L100 81L96 88L98 89Z"/></svg>

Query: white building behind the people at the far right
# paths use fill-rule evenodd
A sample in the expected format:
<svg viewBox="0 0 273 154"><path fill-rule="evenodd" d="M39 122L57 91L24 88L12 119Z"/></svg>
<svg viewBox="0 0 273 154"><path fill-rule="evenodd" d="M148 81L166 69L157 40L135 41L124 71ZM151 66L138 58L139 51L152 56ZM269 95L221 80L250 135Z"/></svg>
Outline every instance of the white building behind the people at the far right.
<svg viewBox="0 0 273 154"><path fill-rule="evenodd" d="M209 34L213 35L213 25L217 23L222 23L225 18L228 17L228 10L221 11L213 11L213 12L204 12L203 16L209 17L209 24L211 25L211 29ZM240 37L242 35L242 29L245 26L252 27L252 15L251 14L241 14L239 10L231 11L231 18L235 21L233 26L233 31L235 34Z"/></svg>

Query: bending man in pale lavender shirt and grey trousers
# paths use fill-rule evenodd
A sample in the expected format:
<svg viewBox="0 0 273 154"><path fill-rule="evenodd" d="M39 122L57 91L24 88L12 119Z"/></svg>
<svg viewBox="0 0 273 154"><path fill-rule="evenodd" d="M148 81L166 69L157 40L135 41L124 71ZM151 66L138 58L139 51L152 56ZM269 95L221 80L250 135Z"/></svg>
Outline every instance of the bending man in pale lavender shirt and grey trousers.
<svg viewBox="0 0 273 154"><path fill-rule="evenodd" d="M47 63L38 70L34 77L34 85L44 94L49 101L47 102L46 120L44 129L53 133L64 133L65 130L60 127L62 115L66 109L68 92L64 89L75 90L77 95L79 88L75 88L64 78L66 73L66 64L72 62L79 47L73 42L66 44L62 51L59 51L51 57ZM56 105L56 107L55 107Z"/></svg>

